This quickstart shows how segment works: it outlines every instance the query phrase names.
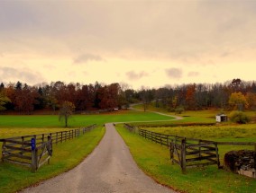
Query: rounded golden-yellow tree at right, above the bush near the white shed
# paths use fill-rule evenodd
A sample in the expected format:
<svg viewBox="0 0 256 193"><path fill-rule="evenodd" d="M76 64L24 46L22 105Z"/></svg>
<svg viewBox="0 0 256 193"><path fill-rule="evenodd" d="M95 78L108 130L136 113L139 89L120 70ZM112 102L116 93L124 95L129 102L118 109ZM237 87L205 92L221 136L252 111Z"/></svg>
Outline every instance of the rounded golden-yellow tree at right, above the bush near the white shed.
<svg viewBox="0 0 256 193"><path fill-rule="evenodd" d="M229 97L228 103L233 110L243 110L243 108L248 108L248 102L242 92L233 92Z"/></svg>

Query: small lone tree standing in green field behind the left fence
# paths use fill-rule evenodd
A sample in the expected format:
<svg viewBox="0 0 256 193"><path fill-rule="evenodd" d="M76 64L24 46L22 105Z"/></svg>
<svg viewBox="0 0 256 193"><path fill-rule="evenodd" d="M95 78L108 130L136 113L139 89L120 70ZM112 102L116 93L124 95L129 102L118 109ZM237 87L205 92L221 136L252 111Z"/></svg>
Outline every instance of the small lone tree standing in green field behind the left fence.
<svg viewBox="0 0 256 193"><path fill-rule="evenodd" d="M59 121L65 121L65 127L68 127L68 121L70 116L73 114L75 110L75 105L70 101L64 101L59 110Z"/></svg>

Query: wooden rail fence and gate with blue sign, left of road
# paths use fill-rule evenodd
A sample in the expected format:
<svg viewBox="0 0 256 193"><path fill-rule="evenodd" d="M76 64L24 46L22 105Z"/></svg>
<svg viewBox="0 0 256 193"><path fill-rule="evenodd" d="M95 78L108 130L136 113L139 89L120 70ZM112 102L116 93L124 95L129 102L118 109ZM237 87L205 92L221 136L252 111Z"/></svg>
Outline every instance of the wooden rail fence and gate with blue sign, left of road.
<svg viewBox="0 0 256 193"><path fill-rule="evenodd" d="M92 125L56 133L0 139L0 142L3 143L2 162L13 162L28 166L34 172L44 163L50 162L52 144L57 145L58 143L81 136L95 127L96 125Z"/></svg>

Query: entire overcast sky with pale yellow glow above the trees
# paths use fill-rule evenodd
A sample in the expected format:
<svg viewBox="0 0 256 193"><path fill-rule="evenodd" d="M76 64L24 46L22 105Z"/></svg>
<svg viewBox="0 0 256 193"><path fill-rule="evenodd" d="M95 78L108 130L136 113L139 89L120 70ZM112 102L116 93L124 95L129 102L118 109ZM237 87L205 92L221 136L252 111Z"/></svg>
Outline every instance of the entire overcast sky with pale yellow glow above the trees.
<svg viewBox="0 0 256 193"><path fill-rule="evenodd" d="M0 0L0 82L256 80L256 0Z"/></svg>

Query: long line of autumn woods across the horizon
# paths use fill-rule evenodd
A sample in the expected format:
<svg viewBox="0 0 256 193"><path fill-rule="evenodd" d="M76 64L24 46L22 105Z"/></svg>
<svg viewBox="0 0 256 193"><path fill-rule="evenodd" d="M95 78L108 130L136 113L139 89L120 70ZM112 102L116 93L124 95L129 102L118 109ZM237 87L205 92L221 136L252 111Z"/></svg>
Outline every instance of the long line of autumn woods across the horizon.
<svg viewBox="0 0 256 193"><path fill-rule="evenodd" d="M151 101L169 111L218 109L256 109L256 83L233 79L226 83L188 83L158 89L133 90L125 83L27 83L0 84L0 110L32 114L34 110L59 110L65 101L76 111L128 108L142 102L144 110Z"/></svg>

